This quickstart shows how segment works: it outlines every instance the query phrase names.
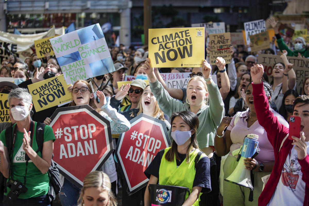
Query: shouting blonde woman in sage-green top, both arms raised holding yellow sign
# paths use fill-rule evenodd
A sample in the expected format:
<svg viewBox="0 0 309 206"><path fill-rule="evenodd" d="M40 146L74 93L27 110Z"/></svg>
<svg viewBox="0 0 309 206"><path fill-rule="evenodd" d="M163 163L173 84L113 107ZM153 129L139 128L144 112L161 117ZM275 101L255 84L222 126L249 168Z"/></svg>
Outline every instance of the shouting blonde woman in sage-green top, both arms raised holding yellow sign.
<svg viewBox="0 0 309 206"><path fill-rule="evenodd" d="M225 70L225 61L222 57L217 57L216 65L219 70ZM197 141L201 150L210 158L210 193L201 195L201 203L217 205L219 183L217 179L217 166L213 156L213 145L215 130L221 123L224 114L224 104L218 86L211 78L211 66L204 60L202 64L201 76L193 76L187 85L187 102L181 103L174 100L162 84L157 80L154 68L150 67L150 60L147 58L143 65L145 73L148 75L150 89L158 101L160 109L171 116L177 111L192 111L197 114L200 125L197 128ZM209 105L208 105L209 100Z"/></svg>

